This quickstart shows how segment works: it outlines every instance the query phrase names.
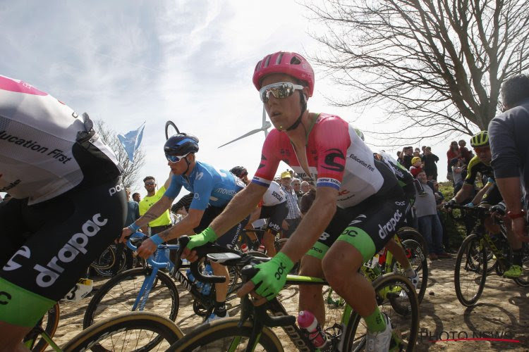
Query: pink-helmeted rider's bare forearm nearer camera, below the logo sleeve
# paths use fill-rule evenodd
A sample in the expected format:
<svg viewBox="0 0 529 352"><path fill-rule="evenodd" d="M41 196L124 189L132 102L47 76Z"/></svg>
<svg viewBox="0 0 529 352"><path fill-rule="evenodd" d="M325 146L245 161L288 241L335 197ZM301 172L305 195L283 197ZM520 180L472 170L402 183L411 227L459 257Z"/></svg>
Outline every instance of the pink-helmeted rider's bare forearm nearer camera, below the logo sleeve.
<svg viewBox="0 0 529 352"><path fill-rule="evenodd" d="M336 212L336 198L338 190L332 187L318 187L314 203L286 241L281 252L296 263L315 244L320 235L331 222Z"/></svg>

